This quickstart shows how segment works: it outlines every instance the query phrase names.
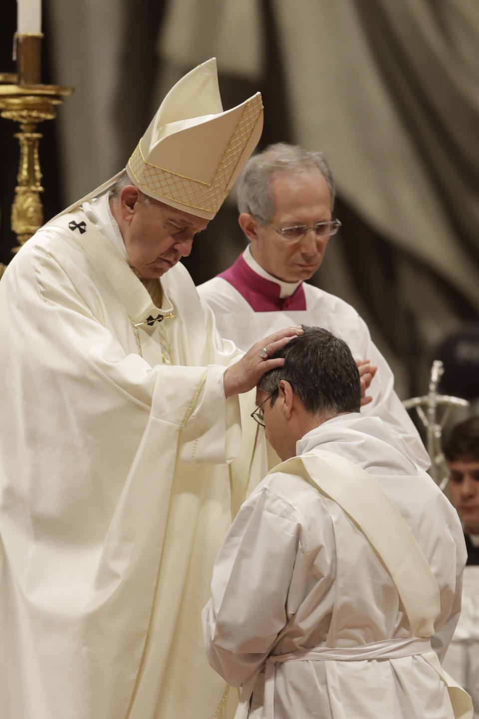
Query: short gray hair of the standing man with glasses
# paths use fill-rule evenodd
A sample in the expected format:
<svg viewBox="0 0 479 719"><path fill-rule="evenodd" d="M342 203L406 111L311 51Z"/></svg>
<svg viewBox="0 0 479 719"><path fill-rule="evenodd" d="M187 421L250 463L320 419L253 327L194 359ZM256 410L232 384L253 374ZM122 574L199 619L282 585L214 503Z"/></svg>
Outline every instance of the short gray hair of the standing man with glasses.
<svg viewBox="0 0 479 719"><path fill-rule="evenodd" d="M249 158L236 180L238 211L253 215L261 225L271 222L275 207L271 197L271 180L274 175L287 173L301 175L309 170L320 170L330 191L331 210L335 201L335 184L330 166L322 152L305 150L299 145L276 142L263 152Z"/></svg>

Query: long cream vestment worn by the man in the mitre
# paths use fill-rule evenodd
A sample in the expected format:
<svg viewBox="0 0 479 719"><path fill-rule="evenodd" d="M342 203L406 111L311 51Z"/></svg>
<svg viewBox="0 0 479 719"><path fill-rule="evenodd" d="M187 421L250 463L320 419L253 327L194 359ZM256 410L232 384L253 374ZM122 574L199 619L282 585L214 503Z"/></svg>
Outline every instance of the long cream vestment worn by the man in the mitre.
<svg viewBox="0 0 479 719"><path fill-rule="evenodd" d="M182 265L154 306L105 202L39 230L0 283L0 714L211 719L200 610L239 354Z"/></svg>

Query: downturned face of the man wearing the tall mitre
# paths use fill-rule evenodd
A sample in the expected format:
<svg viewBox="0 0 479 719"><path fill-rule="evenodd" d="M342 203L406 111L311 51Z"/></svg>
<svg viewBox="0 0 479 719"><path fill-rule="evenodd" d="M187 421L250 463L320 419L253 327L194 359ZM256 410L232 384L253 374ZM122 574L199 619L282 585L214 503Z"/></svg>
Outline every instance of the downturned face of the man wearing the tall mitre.
<svg viewBox="0 0 479 719"><path fill-rule="evenodd" d="M163 203L144 204L137 200L127 206L122 225L126 252L141 277L159 278L182 257L190 255L195 234L208 220Z"/></svg>

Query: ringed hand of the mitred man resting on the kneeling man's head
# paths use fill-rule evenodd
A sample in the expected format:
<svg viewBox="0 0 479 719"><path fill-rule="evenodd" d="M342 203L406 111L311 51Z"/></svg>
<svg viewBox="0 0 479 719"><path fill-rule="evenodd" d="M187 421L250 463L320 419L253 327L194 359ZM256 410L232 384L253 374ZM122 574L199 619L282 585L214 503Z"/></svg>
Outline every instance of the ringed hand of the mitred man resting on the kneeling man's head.
<svg viewBox="0 0 479 719"><path fill-rule="evenodd" d="M284 365L282 357L268 358L298 334L303 334L302 327L292 326L270 334L265 339L261 339L261 342L256 342L253 347L248 349L246 354L243 354L243 357L238 362L235 362L225 371L223 385L226 397L252 390L265 372L274 370L276 367L282 367ZM266 349L266 352L262 352L264 349Z"/></svg>

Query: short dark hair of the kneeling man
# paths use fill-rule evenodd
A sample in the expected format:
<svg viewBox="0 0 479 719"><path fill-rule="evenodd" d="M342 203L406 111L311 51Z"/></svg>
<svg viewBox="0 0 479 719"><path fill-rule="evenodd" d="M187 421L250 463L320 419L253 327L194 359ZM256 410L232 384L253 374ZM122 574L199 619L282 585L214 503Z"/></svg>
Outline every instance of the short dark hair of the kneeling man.
<svg viewBox="0 0 479 719"><path fill-rule="evenodd" d="M302 327L304 334L293 337L271 355L284 357L284 365L266 372L258 389L271 395L273 406L280 380L287 380L312 414L359 412L361 382L348 345L327 329Z"/></svg>

